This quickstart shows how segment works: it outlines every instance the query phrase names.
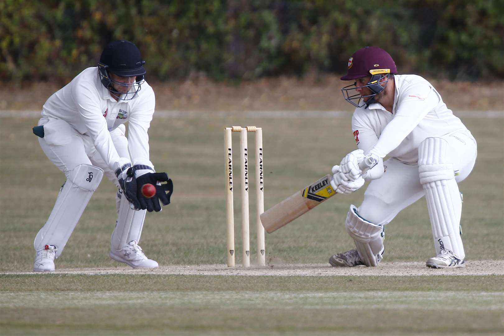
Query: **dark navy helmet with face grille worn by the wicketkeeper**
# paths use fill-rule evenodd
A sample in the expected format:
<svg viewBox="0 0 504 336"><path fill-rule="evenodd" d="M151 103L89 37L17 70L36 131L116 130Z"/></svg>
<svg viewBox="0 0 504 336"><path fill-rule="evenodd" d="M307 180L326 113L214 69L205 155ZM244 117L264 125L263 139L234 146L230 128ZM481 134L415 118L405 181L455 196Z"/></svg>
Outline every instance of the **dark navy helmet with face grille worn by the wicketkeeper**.
<svg viewBox="0 0 504 336"><path fill-rule="evenodd" d="M98 62L101 84L117 100L131 100L145 82L144 64L145 60L142 59L140 50L132 42L126 40L110 42L103 49ZM119 82L113 80L111 74L119 77L136 77L136 80L134 83Z"/></svg>

